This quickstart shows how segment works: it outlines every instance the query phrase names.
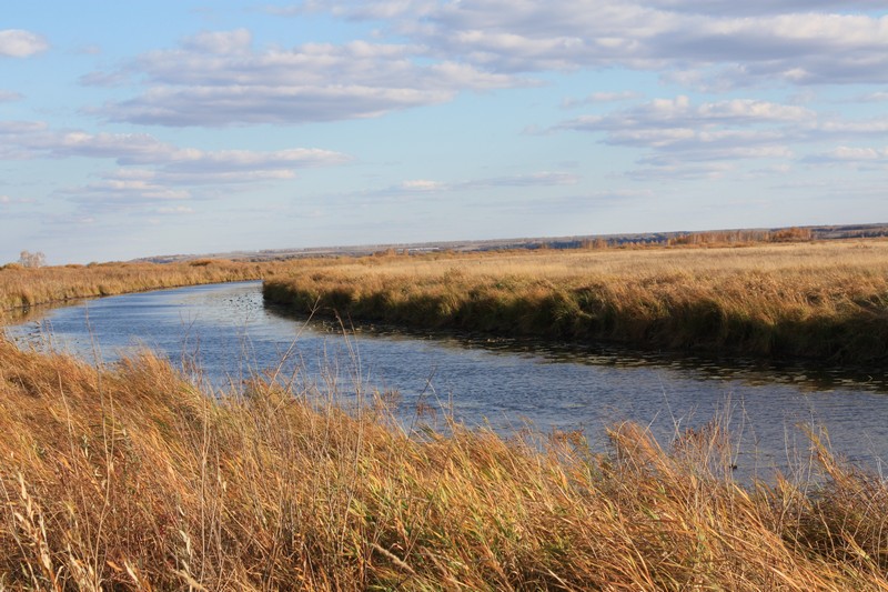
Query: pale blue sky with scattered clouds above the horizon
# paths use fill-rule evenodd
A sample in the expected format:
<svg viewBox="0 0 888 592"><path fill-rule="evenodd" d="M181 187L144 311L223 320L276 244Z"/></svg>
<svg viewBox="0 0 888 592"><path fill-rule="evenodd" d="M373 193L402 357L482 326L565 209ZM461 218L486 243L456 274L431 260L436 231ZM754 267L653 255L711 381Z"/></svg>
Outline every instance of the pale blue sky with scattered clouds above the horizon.
<svg viewBox="0 0 888 592"><path fill-rule="evenodd" d="M888 222L888 1L29 0L0 264Z"/></svg>

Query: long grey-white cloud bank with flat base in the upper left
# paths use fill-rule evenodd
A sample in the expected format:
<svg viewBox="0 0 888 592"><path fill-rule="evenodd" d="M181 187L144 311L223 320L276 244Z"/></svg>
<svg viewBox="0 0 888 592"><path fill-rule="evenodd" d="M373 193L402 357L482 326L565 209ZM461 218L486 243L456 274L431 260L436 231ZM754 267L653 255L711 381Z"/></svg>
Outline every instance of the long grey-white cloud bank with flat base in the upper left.
<svg viewBox="0 0 888 592"><path fill-rule="evenodd" d="M145 53L124 71L93 72L82 81L145 77L145 92L95 111L113 121L173 127L372 118L450 101L461 90L529 83L462 62L422 62L424 49L408 44L352 41L261 51L251 44L246 30L205 32L176 49Z"/></svg>

